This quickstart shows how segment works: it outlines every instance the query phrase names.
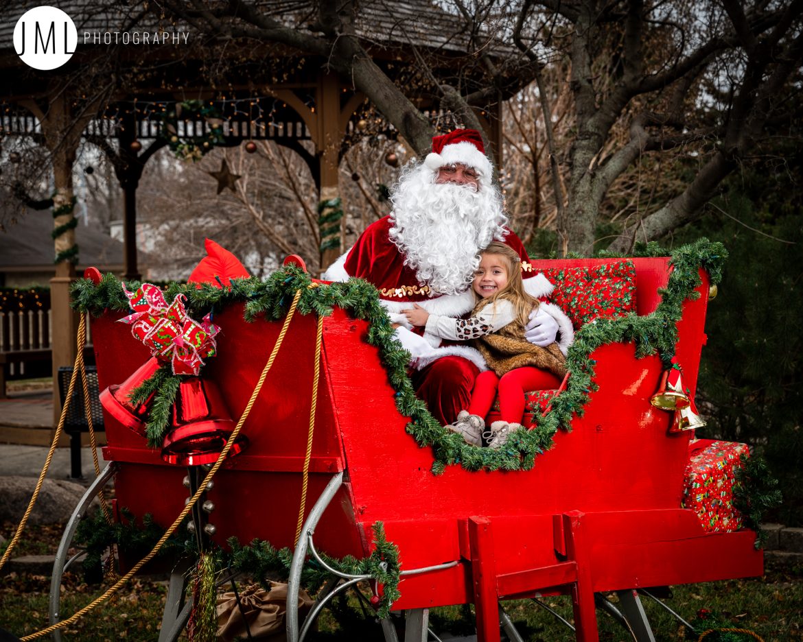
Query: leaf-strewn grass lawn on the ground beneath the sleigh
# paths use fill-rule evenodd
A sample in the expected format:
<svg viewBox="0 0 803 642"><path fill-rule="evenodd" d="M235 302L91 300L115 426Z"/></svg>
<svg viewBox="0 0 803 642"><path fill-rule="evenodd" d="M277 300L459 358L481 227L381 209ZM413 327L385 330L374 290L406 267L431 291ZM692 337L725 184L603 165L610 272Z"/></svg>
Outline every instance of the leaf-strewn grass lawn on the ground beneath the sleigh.
<svg viewBox="0 0 803 642"><path fill-rule="evenodd" d="M2 532L9 533L13 525ZM60 526L29 526L26 537L14 551L18 555L42 555L54 552L60 538ZM401 587L404 591L404 585ZM104 640L141 640L156 642L165 603L166 583L153 579L137 579L110 603L98 607L67 628L64 640L104 642ZM47 627L50 578L45 575L5 575L0 580L0 628L22 637ZM92 602L102 590L89 587L79 576L67 573L61 588L63 617ZM718 615L724 624L755 632L764 642L803 640L803 560L768 557L761 578L726 580L705 584L672 587L668 603L686 620L693 620L700 609ZM615 595L609 596L614 602ZM571 620L569 598L544 598L554 610ZM642 598L656 639L683 640L684 630L672 616L648 598ZM529 600L504 603L507 614L516 624L524 640L562 642L574 640L573 633L554 616ZM368 615L368 617L365 617ZM366 614L357 600L350 600L339 614L324 610L318 630L309 637L320 642L382 640L381 628L372 614ZM629 640L622 628L605 613L597 611L601 640ZM469 607L442 607L430 612L430 628L438 635L451 632L469 635L474 632ZM49 640L49 637L42 638ZM403 640L403 636L401 637ZM430 638L433 639L434 638ZM185 640L185 635L181 636ZM709 636L708 642L715 637ZM745 638L755 640L755 638Z"/></svg>

